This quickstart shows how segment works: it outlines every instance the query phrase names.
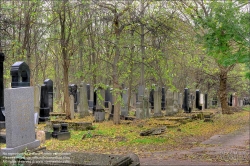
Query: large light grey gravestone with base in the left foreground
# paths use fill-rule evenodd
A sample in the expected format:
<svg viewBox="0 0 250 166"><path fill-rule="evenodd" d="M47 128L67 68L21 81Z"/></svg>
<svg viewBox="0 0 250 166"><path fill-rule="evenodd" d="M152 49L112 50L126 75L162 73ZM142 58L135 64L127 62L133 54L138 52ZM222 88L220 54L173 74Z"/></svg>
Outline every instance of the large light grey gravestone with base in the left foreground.
<svg viewBox="0 0 250 166"><path fill-rule="evenodd" d="M5 89L6 148L3 153L20 153L40 146L35 139L34 87Z"/></svg>

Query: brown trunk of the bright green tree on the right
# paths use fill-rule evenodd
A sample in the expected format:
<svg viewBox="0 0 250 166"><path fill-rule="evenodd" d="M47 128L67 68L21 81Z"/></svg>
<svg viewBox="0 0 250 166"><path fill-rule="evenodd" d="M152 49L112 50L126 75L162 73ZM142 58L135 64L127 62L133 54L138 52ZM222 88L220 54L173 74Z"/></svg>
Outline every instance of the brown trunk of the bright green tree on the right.
<svg viewBox="0 0 250 166"><path fill-rule="evenodd" d="M219 97L221 102L222 114L231 114L228 103L227 103L227 74L228 68L220 66L220 89Z"/></svg>

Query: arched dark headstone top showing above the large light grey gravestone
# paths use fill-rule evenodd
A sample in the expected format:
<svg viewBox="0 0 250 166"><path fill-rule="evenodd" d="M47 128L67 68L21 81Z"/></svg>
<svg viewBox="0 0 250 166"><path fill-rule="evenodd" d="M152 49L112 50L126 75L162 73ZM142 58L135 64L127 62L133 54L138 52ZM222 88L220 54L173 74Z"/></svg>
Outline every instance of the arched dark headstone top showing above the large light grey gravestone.
<svg viewBox="0 0 250 166"><path fill-rule="evenodd" d="M19 61L14 63L11 66L10 75L12 77L12 88L30 86L30 69L25 62Z"/></svg>

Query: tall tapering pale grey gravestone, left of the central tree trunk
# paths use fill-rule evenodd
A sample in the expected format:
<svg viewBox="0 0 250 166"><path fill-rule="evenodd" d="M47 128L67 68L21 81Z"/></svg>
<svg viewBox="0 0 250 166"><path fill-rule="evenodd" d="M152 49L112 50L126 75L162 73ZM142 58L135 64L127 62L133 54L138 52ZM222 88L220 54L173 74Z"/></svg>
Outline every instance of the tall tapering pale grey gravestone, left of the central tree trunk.
<svg viewBox="0 0 250 166"><path fill-rule="evenodd" d="M80 118L83 118L85 116L89 116L87 86L84 82L81 82L81 84L80 84L79 108L80 108L80 110L79 110Z"/></svg>

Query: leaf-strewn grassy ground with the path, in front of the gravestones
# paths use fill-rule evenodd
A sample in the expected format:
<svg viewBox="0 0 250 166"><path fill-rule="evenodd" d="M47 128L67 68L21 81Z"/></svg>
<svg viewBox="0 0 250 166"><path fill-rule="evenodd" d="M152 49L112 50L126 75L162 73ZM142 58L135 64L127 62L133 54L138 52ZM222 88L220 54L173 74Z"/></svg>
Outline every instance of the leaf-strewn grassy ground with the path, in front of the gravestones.
<svg viewBox="0 0 250 166"><path fill-rule="evenodd" d="M211 121L202 116L179 113L174 117L125 121L93 122L93 116L74 121L91 122L94 130L70 130L69 140L46 140L41 147L62 153L138 155L144 165L249 165L250 107L232 108L234 114L223 115L219 109ZM198 113L200 114L200 113ZM196 117L196 118L194 118ZM198 117L198 119L197 119ZM158 135L141 136L142 131L167 126ZM44 130L39 124L36 130ZM5 147L6 144L0 144Z"/></svg>

